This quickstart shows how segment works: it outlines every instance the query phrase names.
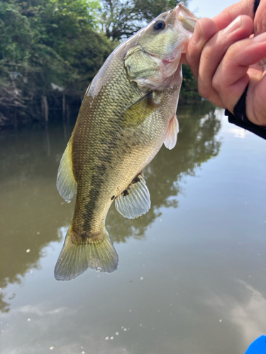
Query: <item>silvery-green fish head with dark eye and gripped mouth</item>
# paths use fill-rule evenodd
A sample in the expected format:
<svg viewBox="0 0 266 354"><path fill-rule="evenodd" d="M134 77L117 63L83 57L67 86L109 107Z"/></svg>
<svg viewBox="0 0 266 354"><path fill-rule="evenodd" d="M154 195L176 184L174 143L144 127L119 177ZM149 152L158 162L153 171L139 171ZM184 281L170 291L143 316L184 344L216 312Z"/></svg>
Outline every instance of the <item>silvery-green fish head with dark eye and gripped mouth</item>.
<svg viewBox="0 0 266 354"><path fill-rule="evenodd" d="M124 58L129 79L149 89L173 86L174 74L196 21L193 13L180 3L129 38Z"/></svg>

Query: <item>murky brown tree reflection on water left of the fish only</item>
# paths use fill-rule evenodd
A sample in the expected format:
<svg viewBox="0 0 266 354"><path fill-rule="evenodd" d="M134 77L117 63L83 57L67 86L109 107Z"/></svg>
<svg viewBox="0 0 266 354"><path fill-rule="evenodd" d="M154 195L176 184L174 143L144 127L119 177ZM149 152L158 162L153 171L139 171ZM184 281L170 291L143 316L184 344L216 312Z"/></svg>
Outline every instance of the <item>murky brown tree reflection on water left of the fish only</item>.
<svg viewBox="0 0 266 354"><path fill-rule="evenodd" d="M60 135L58 130L1 133L1 311L8 310L3 288L38 268L43 247L59 241L55 224L69 222L64 208L57 207L61 200L55 188L65 145Z"/></svg>

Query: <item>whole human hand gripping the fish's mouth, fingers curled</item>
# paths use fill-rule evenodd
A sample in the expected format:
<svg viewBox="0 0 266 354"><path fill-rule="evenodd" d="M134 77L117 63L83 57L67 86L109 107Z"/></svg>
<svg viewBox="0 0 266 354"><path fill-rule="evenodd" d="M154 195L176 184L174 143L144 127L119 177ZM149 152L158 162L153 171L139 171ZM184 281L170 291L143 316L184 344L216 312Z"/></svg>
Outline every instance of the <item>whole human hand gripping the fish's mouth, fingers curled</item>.
<svg viewBox="0 0 266 354"><path fill-rule="evenodd" d="M261 0L253 23L253 1L243 0L212 20L201 18L186 55L201 96L232 113L248 85L246 115L257 125L266 125L265 11Z"/></svg>

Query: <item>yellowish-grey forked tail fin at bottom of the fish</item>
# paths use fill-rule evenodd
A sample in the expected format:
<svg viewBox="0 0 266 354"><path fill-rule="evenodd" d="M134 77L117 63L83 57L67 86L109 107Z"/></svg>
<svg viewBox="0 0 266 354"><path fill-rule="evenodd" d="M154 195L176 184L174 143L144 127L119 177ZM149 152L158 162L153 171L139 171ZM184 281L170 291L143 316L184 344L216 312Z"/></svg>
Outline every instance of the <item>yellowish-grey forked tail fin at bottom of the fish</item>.
<svg viewBox="0 0 266 354"><path fill-rule="evenodd" d="M80 238L79 242L74 242ZM72 232L72 227L67 231L65 243L55 265L55 279L71 280L84 273L88 268L100 272L111 273L118 267L118 255L113 247L109 234L104 229L104 234L99 237L101 242L89 243Z"/></svg>

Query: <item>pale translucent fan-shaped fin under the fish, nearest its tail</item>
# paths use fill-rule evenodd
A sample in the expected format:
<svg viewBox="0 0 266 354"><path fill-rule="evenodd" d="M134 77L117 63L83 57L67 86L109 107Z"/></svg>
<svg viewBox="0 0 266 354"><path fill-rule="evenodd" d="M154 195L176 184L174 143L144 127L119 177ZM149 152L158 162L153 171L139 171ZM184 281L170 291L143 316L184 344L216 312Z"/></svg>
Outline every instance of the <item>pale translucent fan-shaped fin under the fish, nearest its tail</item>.
<svg viewBox="0 0 266 354"><path fill-rule="evenodd" d="M145 214L150 209L150 192L143 174L135 177L126 190L115 200L116 210L128 219Z"/></svg>

